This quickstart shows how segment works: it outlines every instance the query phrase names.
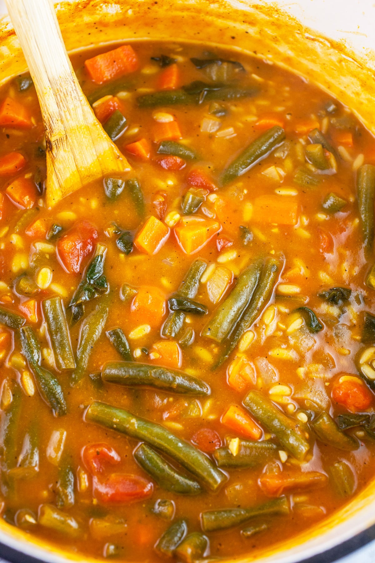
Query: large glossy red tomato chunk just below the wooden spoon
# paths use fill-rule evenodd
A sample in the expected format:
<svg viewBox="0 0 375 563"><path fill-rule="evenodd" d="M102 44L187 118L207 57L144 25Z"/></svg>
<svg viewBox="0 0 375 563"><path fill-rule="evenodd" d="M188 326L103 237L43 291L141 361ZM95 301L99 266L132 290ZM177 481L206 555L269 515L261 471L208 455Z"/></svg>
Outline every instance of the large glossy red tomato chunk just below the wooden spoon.
<svg viewBox="0 0 375 563"><path fill-rule="evenodd" d="M70 274L78 274L83 259L94 248L98 231L88 221L73 225L57 242L57 254Z"/></svg>

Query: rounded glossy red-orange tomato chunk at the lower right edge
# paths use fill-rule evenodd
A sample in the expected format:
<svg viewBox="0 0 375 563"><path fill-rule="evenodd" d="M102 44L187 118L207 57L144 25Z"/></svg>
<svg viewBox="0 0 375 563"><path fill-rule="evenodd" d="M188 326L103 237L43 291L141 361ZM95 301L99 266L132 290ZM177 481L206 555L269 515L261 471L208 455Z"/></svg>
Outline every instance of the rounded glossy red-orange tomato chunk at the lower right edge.
<svg viewBox="0 0 375 563"><path fill-rule="evenodd" d="M332 387L332 400L355 413L366 410L373 403L374 396L362 379L351 374L341 374Z"/></svg>

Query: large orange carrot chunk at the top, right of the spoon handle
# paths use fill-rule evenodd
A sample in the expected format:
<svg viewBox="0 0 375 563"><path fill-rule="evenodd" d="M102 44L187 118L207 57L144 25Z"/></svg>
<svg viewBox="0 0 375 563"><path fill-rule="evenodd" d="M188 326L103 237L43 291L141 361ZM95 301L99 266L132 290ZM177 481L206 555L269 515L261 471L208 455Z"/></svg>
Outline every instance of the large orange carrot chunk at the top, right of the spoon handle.
<svg viewBox="0 0 375 563"><path fill-rule="evenodd" d="M123 45L85 61L85 68L97 84L120 78L139 67L137 54L130 45Z"/></svg>

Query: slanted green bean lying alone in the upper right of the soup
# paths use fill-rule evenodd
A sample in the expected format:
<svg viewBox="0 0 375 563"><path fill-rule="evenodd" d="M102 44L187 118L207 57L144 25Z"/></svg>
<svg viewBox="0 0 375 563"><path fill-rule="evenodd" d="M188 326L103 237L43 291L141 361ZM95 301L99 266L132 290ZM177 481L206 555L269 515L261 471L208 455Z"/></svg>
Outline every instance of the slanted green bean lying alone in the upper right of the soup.
<svg viewBox="0 0 375 563"><path fill-rule="evenodd" d="M246 147L242 153L229 164L223 172L222 184L228 184L238 176L242 176L250 170L259 160L264 159L275 149L285 138L285 131L282 127L272 127L263 135L256 138Z"/></svg>

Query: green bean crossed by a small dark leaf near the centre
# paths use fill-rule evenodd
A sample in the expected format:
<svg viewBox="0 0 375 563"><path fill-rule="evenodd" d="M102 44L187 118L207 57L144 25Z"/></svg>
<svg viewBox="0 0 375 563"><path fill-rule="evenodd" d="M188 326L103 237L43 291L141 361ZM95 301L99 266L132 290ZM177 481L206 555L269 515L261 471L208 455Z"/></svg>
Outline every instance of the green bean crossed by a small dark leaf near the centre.
<svg viewBox="0 0 375 563"><path fill-rule="evenodd" d="M204 260L196 260L189 267L189 270L178 288L177 294L182 297L193 299L198 293L199 283L207 263ZM161 329L162 336L175 338L182 328L185 315L182 311L170 312Z"/></svg>

